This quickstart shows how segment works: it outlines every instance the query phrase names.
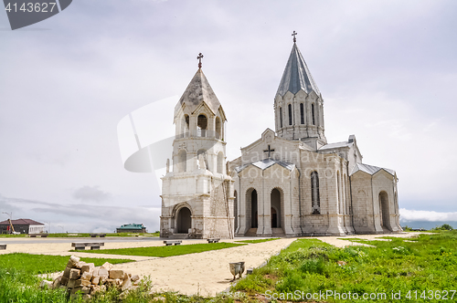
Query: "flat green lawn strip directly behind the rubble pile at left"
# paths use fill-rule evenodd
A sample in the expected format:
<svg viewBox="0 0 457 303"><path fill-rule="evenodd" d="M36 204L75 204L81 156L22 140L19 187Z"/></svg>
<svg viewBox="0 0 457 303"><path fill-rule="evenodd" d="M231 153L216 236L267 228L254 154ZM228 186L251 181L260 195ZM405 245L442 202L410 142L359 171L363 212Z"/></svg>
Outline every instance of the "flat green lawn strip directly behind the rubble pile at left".
<svg viewBox="0 0 457 303"><path fill-rule="evenodd" d="M133 262L129 259L107 259L107 258L90 258L83 257L81 261L93 263L95 266L101 266L105 262L112 264ZM48 274L62 271L69 262L69 256L48 256L48 255L31 255L31 254L6 254L0 255L0 268L7 270L16 269L27 274Z"/></svg>

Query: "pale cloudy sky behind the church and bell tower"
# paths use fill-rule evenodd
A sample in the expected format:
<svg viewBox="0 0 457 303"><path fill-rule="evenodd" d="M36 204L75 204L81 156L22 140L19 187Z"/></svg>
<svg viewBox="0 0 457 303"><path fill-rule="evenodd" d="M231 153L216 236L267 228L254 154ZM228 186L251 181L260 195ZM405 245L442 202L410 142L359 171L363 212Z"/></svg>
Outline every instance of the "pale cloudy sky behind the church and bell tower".
<svg viewBox="0 0 457 303"><path fill-rule="evenodd" d="M153 104L143 120L173 134L201 52L239 157L274 130L295 30L327 141L355 134L363 162L397 172L402 225L457 227L456 13L452 0L77 0L12 31L0 11L0 221L158 230L160 182L124 169L120 122Z"/></svg>

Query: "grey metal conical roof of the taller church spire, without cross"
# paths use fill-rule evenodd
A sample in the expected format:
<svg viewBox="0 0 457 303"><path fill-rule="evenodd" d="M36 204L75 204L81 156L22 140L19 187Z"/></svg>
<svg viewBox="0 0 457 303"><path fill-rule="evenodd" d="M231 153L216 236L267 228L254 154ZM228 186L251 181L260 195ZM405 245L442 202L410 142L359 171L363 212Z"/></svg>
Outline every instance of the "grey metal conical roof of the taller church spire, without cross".
<svg viewBox="0 0 457 303"><path fill-rule="evenodd" d="M287 61L287 65L282 74L280 87L277 94L284 96L288 91L296 94L300 89L303 89L307 94L312 90L319 95L319 89L314 82L311 72L304 62L302 53L298 49L296 43L293 43L291 56Z"/></svg>

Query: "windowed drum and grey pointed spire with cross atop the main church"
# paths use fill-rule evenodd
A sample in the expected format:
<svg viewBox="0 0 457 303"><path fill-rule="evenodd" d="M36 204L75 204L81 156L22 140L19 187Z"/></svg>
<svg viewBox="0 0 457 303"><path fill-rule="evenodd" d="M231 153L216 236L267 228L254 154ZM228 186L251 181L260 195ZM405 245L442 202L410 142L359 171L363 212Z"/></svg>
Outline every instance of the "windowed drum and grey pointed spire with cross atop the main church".
<svg viewBox="0 0 457 303"><path fill-rule="evenodd" d="M293 46L274 99L275 128L278 136L300 140L318 149L325 145L324 99L297 47Z"/></svg>

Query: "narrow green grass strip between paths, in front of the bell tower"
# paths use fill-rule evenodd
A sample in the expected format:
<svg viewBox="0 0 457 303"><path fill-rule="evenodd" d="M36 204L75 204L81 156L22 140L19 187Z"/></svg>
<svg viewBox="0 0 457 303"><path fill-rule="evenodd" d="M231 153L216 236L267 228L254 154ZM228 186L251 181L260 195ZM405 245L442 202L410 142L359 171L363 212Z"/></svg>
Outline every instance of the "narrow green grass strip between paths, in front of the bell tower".
<svg viewBox="0 0 457 303"><path fill-rule="evenodd" d="M135 248L117 248L117 249L101 249L90 250L90 254L111 254L124 256L180 256L186 254L195 254L206 252L208 250L218 250L229 247L245 246L245 244L235 243L208 243L208 244L192 244L185 246L150 246L150 247L135 247ZM84 253L84 251L79 251Z"/></svg>

